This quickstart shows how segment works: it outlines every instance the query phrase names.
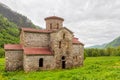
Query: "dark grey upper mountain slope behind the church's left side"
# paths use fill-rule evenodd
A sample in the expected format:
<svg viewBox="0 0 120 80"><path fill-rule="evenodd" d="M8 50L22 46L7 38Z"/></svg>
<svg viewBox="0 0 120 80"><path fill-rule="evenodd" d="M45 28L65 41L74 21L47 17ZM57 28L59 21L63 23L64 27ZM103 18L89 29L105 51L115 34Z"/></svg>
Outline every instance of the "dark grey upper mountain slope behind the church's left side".
<svg viewBox="0 0 120 80"><path fill-rule="evenodd" d="M19 27L38 28L38 26L34 25L27 17L11 10L8 6L2 3L0 3L0 14L8 18L10 22L17 24Z"/></svg>

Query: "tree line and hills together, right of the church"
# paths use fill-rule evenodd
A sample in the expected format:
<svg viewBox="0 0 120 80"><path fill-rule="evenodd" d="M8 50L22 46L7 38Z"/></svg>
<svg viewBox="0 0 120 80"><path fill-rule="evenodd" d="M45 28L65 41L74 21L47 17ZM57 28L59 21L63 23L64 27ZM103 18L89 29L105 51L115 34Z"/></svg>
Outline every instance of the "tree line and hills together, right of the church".
<svg viewBox="0 0 120 80"><path fill-rule="evenodd" d="M85 49L86 56L120 56L120 36L111 41L110 43L98 48L97 46Z"/></svg>

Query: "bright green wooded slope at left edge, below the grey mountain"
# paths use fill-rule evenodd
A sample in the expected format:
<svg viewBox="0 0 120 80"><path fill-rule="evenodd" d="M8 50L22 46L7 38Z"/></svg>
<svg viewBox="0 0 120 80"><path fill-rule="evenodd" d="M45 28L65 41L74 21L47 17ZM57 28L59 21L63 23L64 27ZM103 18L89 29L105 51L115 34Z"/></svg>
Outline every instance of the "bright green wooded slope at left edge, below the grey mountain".
<svg viewBox="0 0 120 80"><path fill-rule="evenodd" d="M4 44L19 43L19 29L16 24L0 15L0 57L4 56Z"/></svg>

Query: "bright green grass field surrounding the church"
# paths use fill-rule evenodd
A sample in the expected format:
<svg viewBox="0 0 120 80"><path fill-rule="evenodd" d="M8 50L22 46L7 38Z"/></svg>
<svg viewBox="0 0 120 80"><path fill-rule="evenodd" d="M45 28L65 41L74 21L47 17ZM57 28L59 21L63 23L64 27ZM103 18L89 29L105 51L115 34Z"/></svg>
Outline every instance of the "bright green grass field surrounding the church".
<svg viewBox="0 0 120 80"><path fill-rule="evenodd" d="M67 70L5 72L0 58L0 80L120 80L120 57L87 57L84 66Z"/></svg>

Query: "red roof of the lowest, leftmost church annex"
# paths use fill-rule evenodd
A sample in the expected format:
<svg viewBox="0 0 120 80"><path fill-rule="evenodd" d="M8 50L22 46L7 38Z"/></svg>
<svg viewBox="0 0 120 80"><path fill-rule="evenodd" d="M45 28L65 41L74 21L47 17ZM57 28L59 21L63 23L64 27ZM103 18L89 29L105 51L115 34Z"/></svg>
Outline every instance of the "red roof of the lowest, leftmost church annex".
<svg viewBox="0 0 120 80"><path fill-rule="evenodd" d="M4 45L5 50L22 50L22 45L20 44L6 44Z"/></svg>

